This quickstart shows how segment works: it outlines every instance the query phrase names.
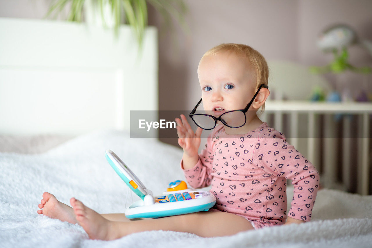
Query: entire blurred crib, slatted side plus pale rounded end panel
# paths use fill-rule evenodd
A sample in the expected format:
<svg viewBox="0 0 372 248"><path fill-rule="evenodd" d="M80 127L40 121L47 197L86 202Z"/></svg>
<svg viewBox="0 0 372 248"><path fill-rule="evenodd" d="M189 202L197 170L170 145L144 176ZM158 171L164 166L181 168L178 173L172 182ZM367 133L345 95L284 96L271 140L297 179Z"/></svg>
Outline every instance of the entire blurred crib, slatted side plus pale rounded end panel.
<svg viewBox="0 0 372 248"><path fill-rule="evenodd" d="M268 64L272 100L266 102L261 119L283 132L314 164L322 187L372 194L372 102L306 101L314 87L330 92L330 83L311 74L307 66L288 61ZM337 80L349 83L345 75ZM359 81L368 85L371 80L362 76Z"/></svg>

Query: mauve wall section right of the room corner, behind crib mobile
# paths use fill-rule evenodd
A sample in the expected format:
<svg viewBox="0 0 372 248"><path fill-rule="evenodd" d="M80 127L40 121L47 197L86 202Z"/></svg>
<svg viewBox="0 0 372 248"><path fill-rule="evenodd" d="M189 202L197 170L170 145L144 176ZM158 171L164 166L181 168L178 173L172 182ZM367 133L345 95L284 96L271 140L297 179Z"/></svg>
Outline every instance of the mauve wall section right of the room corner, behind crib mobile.
<svg viewBox="0 0 372 248"><path fill-rule="evenodd" d="M307 65L325 64L332 58L323 55L315 42L321 30L332 23L346 23L360 39L372 41L372 1L371 0L313 0L299 4L299 60ZM350 47L350 62L365 66L371 64L371 55L360 46Z"/></svg>

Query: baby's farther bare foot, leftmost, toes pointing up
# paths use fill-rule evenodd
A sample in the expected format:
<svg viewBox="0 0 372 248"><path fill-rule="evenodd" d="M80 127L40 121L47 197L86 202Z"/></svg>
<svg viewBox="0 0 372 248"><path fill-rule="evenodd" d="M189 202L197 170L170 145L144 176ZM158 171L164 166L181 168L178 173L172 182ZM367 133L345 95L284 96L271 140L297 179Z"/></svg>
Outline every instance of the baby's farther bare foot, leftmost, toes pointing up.
<svg viewBox="0 0 372 248"><path fill-rule="evenodd" d="M44 192L41 204L39 204L38 214L43 214L52 219L67 221L76 224L74 209L55 198L54 195Z"/></svg>

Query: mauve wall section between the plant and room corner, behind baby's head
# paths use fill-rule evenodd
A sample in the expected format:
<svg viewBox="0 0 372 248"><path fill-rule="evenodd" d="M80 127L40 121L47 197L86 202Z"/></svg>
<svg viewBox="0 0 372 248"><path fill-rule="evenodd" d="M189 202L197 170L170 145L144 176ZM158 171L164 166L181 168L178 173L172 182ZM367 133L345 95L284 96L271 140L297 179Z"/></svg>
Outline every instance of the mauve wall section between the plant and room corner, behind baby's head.
<svg viewBox="0 0 372 248"><path fill-rule="evenodd" d="M171 37L160 38L160 109L193 108L201 95L196 74L199 60L215 45L249 44L267 58L298 60L296 0L186 3L190 34L178 29L178 45ZM150 23L159 26L157 16L150 16Z"/></svg>

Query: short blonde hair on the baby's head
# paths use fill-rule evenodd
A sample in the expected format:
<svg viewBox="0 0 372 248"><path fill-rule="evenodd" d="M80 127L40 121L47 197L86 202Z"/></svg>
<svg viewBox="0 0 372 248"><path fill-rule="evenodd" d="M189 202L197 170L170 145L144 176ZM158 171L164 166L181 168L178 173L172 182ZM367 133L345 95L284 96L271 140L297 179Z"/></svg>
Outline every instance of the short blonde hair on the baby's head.
<svg viewBox="0 0 372 248"><path fill-rule="evenodd" d="M256 79L256 89L262 84L269 84L269 67L267 66L265 58L257 50L254 50L248 45L227 43L209 49L202 58L221 52L234 53L248 62L248 66L253 69L254 78ZM265 104L261 106L259 114L261 114L264 109Z"/></svg>

